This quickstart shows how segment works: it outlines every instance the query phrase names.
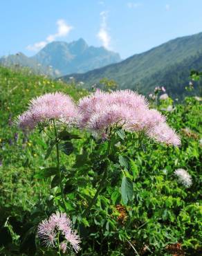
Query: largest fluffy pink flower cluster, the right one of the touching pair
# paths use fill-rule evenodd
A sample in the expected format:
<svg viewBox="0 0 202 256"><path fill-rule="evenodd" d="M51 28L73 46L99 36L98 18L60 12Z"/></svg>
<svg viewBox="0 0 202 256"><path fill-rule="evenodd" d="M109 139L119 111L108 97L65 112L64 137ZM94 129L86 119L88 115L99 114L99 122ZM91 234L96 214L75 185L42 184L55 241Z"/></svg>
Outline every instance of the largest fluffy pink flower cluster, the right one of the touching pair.
<svg viewBox="0 0 202 256"><path fill-rule="evenodd" d="M122 127L127 131L145 131L160 143L175 146L181 143L165 117L156 109L149 109L145 97L134 91L95 91L80 100L78 111L78 125L104 137L109 135L111 127Z"/></svg>

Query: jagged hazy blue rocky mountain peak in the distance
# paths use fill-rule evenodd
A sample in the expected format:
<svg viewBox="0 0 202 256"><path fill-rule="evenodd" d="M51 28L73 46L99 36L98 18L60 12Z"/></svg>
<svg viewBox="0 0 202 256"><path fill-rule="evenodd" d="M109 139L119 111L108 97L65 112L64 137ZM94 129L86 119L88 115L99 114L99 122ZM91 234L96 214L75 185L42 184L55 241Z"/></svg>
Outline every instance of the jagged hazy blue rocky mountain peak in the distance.
<svg viewBox="0 0 202 256"><path fill-rule="evenodd" d="M47 44L32 59L43 66L53 66L62 75L66 75L69 73L84 73L120 62L120 55L108 51L104 47L88 46L81 38L69 44L66 42Z"/></svg>

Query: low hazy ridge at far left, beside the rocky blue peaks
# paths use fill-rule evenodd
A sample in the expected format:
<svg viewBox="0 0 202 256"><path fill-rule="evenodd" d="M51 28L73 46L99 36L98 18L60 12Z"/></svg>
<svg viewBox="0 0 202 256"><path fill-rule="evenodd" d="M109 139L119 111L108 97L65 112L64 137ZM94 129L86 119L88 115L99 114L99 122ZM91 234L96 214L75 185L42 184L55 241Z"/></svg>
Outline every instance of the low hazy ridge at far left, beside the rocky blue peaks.
<svg viewBox="0 0 202 256"><path fill-rule="evenodd" d="M28 67L36 74L57 76L57 71L54 71L53 68L42 66L37 60L27 57L23 53L1 57L0 65L15 68Z"/></svg>

